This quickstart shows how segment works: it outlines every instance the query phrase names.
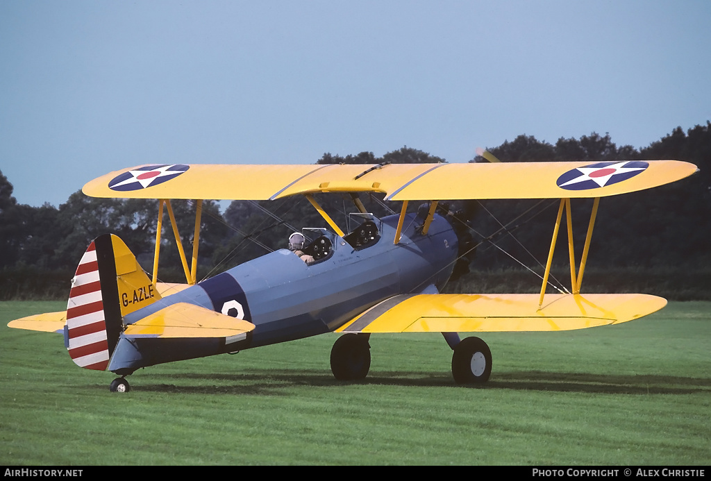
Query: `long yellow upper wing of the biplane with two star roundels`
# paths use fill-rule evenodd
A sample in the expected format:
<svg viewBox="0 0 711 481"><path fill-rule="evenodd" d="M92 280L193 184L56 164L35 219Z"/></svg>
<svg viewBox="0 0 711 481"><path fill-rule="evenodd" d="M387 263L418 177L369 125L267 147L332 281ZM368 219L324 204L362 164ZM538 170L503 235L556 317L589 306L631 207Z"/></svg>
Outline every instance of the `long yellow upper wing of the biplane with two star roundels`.
<svg viewBox="0 0 711 481"><path fill-rule="evenodd" d="M611 176L621 169L631 171L626 163L603 168L591 162L137 166L103 175L82 190L92 197L149 199L274 200L319 192L377 192L387 200L595 198L656 187L697 171L680 161L643 164L629 178L614 181ZM599 185L559 187L565 175L589 175L587 180Z"/></svg>

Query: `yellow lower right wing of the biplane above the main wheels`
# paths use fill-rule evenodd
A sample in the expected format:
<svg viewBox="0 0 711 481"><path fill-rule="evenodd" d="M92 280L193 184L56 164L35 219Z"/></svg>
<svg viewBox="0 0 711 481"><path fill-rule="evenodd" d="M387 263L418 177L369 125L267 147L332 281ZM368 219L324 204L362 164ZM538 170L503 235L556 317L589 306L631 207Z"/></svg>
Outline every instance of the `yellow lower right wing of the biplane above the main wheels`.
<svg viewBox="0 0 711 481"><path fill-rule="evenodd" d="M338 333L488 333L556 331L625 323L663 308L647 294L419 294L395 296Z"/></svg>

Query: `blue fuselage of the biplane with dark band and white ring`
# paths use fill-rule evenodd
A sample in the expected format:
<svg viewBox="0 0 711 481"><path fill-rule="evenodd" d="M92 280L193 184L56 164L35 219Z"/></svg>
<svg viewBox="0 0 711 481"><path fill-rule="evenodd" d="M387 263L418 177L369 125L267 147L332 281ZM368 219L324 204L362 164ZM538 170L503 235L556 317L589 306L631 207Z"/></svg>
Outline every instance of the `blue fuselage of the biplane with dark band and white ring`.
<svg viewBox="0 0 711 481"><path fill-rule="evenodd" d="M377 240L363 247L353 247L350 236L346 240L319 229L329 249L312 264L280 249L127 315L124 323L131 324L183 302L243 318L256 327L235 339L129 340L122 335L108 370L124 374L161 362L328 333L391 296L442 288L458 249L451 225L435 215L424 235L422 218L407 215L395 244L397 220L397 215L380 220Z"/></svg>

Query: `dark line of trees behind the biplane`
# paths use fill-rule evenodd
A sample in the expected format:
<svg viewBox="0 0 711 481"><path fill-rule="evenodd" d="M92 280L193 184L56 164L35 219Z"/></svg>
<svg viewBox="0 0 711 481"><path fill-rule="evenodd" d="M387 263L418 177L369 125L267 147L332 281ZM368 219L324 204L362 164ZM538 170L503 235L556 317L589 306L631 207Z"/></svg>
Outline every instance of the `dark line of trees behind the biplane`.
<svg viewBox="0 0 711 481"><path fill-rule="evenodd" d="M695 163L700 172L680 182L603 198L589 264L608 271L666 269L680 280L693 277L698 291L709 291L709 276L697 275L709 271L711 266L711 122L688 131L678 127L639 150L616 146L609 134L592 133L579 139L560 138L555 144L520 135L488 151L504 162L675 159ZM407 146L382 157L372 152L347 156L324 153L316 161L319 164L437 162L446 160ZM475 156L471 162L486 159ZM157 200L89 198L78 190L59 207L47 203L32 207L18 204L12 193L11 180L0 172L0 298L65 297L68 280L87 245L106 232L121 237L137 254L144 269L151 269ZM360 198L368 211L376 215L400 210L399 204L383 202L382 196ZM345 227L348 213L353 212L350 198L331 194L318 195L317 200ZM173 200L172 205L183 247L191 252L195 202ZM476 245L469 256L470 273L464 276L464 282L486 272L520 270L521 264L542 270L540 262L545 263L550 247L556 201L471 200L451 202L446 207L458 212L466 222L472 245ZM572 207L574 244L579 259L592 201L573 200ZM184 277L178 249L168 227L168 217L164 217L160 277L163 281L181 281ZM322 225L324 221L303 198L234 201L225 212L220 212L218 202L205 200L198 279L286 247L287 238L295 229ZM555 258L560 266L567 266L566 243L562 231ZM664 279L668 281L668 276Z"/></svg>

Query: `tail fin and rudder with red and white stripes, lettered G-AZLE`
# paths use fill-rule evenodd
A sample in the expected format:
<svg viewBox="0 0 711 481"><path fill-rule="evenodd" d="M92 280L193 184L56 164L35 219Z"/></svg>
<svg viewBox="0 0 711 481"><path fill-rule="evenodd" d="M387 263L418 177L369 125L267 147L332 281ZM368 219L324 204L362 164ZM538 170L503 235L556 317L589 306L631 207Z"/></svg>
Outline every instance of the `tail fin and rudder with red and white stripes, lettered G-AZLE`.
<svg viewBox="0 0 711 481"><path fill-rule="evenodd" d="M119 237L97 237L82 256L67 301L65 345L85 369L107 369L122 318L161 296Z"/></svg>

